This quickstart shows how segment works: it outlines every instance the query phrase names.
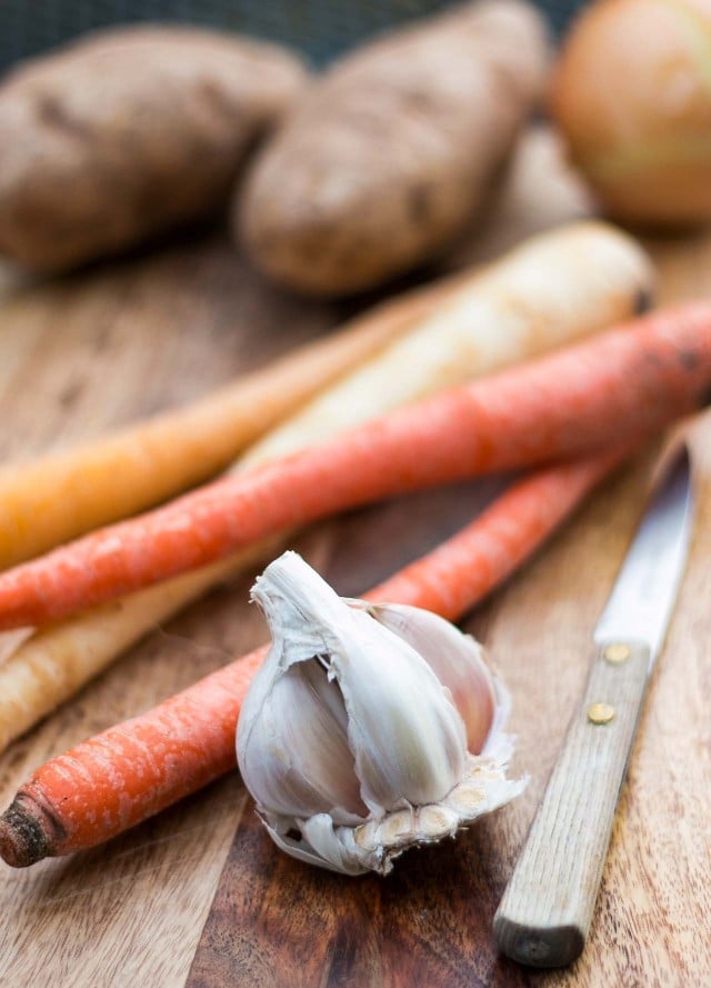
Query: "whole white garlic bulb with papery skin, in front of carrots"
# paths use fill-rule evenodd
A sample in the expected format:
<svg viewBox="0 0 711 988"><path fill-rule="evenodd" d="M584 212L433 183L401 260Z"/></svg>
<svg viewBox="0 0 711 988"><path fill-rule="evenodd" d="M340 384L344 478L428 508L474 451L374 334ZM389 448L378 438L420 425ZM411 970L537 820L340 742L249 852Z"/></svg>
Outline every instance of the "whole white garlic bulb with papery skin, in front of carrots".
<svg viewBox="0 0 711 988"><path fill-rule="evenodd" d="M508 699L478 643L413 607L340 598L296 552L252 588L272 643L237 730L276 844L348 875L387 874L517 796Z"/></svg>

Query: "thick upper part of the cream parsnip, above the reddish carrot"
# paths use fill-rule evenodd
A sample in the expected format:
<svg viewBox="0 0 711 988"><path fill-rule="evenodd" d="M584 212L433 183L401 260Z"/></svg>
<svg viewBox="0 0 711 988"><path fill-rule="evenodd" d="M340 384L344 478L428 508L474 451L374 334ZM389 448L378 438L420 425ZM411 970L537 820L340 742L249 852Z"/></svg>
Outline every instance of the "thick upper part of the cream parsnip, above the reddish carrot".
<svg viewBox="0 0 711 988"><path fill-rule="evenodd" d="M651 287L644 252L613 227L580 222L534 237L267 433L239 467L627 319L649 303Z"/></svg>

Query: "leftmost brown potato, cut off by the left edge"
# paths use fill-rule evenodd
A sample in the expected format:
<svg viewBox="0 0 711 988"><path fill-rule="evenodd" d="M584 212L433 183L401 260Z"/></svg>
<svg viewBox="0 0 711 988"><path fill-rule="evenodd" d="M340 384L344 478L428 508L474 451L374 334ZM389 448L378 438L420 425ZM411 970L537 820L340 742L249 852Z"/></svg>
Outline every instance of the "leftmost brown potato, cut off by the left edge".
<svg viewBox="0 0 711 988"><path fill-rule="evenodd" d="M278 47L158 26L26 63L0 87L0 251L61 271L209 214L307 79Z"/></svg>

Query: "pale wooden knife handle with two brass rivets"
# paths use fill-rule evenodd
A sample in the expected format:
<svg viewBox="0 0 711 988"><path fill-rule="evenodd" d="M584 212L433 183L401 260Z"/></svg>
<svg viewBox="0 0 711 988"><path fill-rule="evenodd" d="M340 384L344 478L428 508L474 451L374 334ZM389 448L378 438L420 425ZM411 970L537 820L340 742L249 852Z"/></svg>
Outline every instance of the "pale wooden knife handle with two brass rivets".
<svg viewBox="0 0 711 988"><path fill-rule="evenodd" d="M634 740L650 652L599 650L521 857L493 920L499 948L534 967L581 952Z"/></svg>

